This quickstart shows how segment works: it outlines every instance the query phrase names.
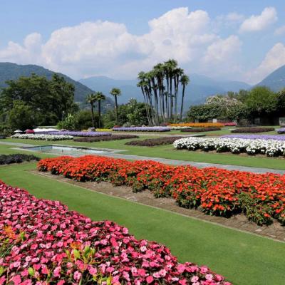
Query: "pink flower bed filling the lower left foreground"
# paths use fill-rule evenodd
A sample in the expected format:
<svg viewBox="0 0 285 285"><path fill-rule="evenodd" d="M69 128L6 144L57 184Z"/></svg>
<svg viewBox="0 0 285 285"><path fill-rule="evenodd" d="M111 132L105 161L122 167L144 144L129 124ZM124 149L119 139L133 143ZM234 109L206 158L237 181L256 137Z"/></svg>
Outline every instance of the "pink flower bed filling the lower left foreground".
<svg viewBox="0 0 285 285"><path fill-rule="evenodd" d="M162 244L0 182L0 284L230 285Z"/></svg>

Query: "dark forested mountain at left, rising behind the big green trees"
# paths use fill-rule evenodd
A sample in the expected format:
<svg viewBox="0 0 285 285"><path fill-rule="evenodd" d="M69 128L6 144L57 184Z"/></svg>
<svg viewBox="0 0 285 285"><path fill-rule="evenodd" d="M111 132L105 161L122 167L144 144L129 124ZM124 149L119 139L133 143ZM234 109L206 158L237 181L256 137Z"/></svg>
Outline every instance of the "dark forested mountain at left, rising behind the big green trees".
<svg viewBox="0 0 285 285"><path fill-rule="evenodd" d="M20 65L16 63L0 63L0 88L6 87L6 81L8 80L16 80L21 76L31 76L32 73L35 73L38 76L45 76L48 79L51 79L53 76L53 71L49 71L46 68L43 68L42 66L36 66L36 65ZM62 74L58 73L58 75L63 76L63 78L69 82L72 83L75 87L75 93L74 93L74 100L79 103L85 104L86 95L93 93L94 90L88 88L87 86L83 85L82 83L78 81L74 81L72 78ZM110 97L107 98L103 102L103 106L106 108L106 106L114 105L113 99Z"/></svg>

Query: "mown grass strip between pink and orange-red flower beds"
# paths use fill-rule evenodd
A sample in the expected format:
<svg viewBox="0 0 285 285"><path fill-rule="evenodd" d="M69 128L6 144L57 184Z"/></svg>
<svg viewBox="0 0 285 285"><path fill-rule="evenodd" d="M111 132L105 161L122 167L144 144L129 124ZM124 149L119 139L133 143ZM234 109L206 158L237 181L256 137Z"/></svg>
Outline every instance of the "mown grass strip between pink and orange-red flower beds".
<svg viewBox="0 0 285 285"><path fill-rule="evenodd" d="M0 180L38 198L60 200L93 220L118 222L138 239L165 244L179 261L205 264L233 284L284 284L284 243L41 177L29 172L35 167L0 167Z"/></svg>

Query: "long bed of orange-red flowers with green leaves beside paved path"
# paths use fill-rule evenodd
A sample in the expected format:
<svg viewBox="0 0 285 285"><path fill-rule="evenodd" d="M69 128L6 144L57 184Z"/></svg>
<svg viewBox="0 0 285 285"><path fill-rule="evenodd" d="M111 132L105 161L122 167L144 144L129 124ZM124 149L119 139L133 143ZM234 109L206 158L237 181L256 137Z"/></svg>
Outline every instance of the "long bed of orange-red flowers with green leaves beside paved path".
<svg viewBox="0 0 285 285"><path fill-rule="evenodd" d="M38 170L78 181L109 181L134 192L150 190L155 197L173 197L181 207L229 217L244 212L257 224L274 219L285 224L285 175L254 174L171 166L154 161L108 157L56 157L38 162Z"/></svg>

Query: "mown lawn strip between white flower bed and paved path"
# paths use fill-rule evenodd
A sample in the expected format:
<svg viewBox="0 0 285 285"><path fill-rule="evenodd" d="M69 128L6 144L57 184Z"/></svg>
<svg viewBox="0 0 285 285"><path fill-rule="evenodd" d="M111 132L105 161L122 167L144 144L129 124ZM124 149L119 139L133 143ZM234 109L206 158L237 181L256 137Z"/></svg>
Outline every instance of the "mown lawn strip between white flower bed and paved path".
<svg viewBox="0 0 285 285"><path fill-rule="evenodd" d="M150 138L147 135L141 135L140 140ZM151 137L155 138L155 137ZM138 140L138 139L133 139ZM217 163L222 165L243 165L249 167L264 167L285 170L285 159L276 157L254 157L250 155L231 155L224 153L208 153L208 152L195 152L188 150L175 150L172 145L161 145L156 147L140 147L133 145L125 145L128 140L112 140L106 142L74 142L73 140L62 140L56 142L48 142L42 140L23 140L23 139L5 139L0 140L3 142L21 142L31 145L73 145L84 147L105 147L119 150L125 150L123 154L140 155L148 157L162 157L172 160L186 160L195 162Z"/></svg>

